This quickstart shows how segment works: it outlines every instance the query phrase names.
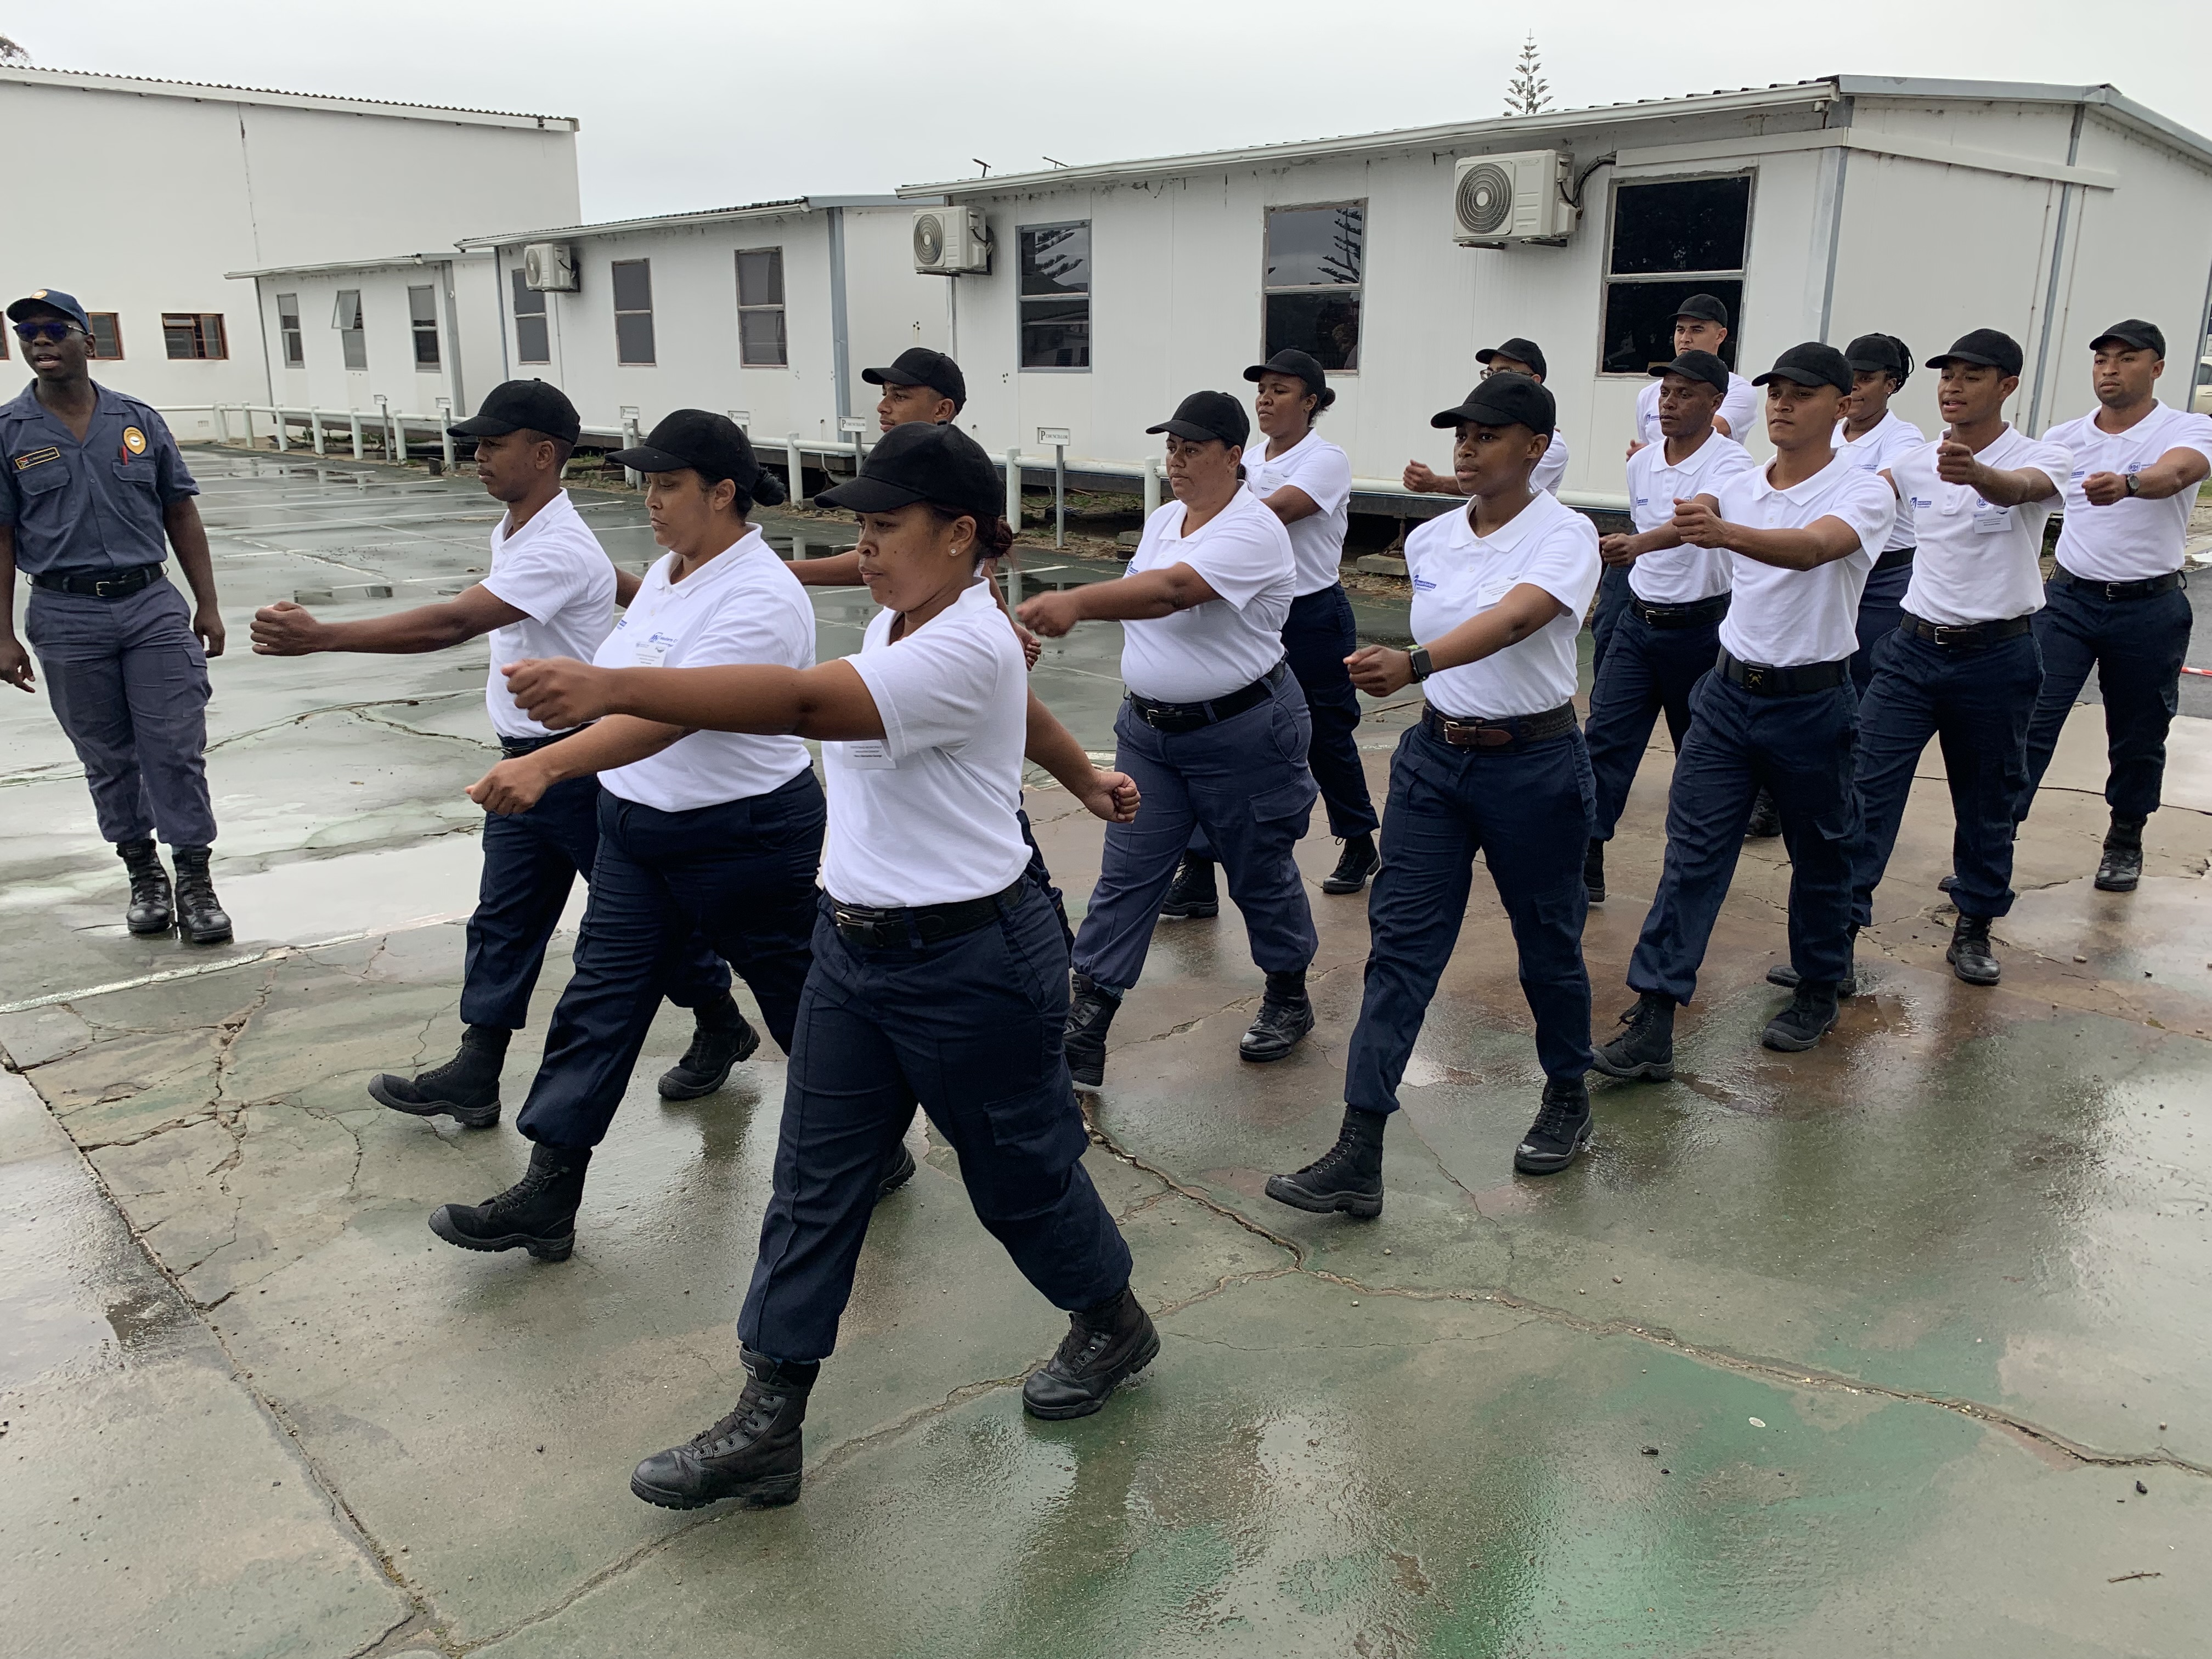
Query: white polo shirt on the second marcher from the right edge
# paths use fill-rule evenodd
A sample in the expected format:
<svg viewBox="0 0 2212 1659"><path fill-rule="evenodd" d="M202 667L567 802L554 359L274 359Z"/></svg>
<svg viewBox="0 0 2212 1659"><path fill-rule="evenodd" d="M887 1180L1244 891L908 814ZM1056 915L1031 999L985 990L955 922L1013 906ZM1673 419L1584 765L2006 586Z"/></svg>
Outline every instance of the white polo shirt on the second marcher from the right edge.
<svg viewBox="0 0 2212 1659"><path fill-rule="evenodd" d="M1907 449L1889 467L1898 498L1913 509L1913 580L1905 608L1927 622L1951 626L2004 622L2044 608L2044 524L2059 498L2044 495L2022 507L1993 507L1966 484L1936 476L1936 445ZM2020 471L2033 467L2057 489L2066 487L2073 456L2055 442L2037 442L2006 427L1978 456L1984 467Z"/></svg>

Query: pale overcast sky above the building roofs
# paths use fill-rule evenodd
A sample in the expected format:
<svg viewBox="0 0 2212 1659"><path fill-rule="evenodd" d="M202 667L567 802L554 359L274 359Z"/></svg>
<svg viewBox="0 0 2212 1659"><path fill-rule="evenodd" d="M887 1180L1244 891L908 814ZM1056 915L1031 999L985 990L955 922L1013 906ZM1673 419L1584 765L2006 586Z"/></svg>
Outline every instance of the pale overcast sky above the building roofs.
<svg viewBox="0 0 2212 1659"><path fill-rule="evenodd" d="M0 0L0 33L46 69L577 115L584 217L619 219L1498 115L1517 15L1562 108L1849 71L2112 82L2212 133L2203 0Z"/></svg>

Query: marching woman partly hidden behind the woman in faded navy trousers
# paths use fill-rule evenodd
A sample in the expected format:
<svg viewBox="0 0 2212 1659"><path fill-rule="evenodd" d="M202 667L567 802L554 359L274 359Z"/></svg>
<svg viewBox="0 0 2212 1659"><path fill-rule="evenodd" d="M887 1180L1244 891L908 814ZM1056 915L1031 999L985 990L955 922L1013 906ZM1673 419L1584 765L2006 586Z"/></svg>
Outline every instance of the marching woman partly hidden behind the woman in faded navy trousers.
<svg viewBox="0 0 2212 1659"><path fill-rule="evenodd" d="M1321 363L1305 352L1283 349L1245 369L1259 387L1252 400L1267 442L1245 451L1245 489L1259 495L1290 529L1290 551L1298 562L1296 597L1283 622L1283 659L1290 664L1314 741L1305 763L1329 810L1329 834L1345 843L1336 869L1321 878L1325 894L1356 894L1376 874L1374 796L1360 768L1354 734L1360 699L1352 690L1345 659L1358 650L1352 599L1338 566L1345 560L1345 526L1352 522L1352 460L1316 429L1323 409L1336 403ZM1183 854L1161 916L1217 916L1214 860L1203 836Z"/></svg>

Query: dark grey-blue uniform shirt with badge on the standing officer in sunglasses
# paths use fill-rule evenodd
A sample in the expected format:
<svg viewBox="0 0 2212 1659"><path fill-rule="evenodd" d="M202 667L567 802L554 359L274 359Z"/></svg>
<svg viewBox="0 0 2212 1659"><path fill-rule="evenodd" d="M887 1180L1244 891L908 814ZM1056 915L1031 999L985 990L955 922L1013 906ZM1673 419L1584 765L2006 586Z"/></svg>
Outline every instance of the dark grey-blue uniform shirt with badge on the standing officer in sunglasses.
<svg viewBox="0 0 2212 1659"><path fill-rule="evenodd" d="M0 524L15 526L24 575L161 564L161 511L199 493L150 405L104 385L93 392L100 398L82 445L38 400L35 385L0 405Z"/></svg>

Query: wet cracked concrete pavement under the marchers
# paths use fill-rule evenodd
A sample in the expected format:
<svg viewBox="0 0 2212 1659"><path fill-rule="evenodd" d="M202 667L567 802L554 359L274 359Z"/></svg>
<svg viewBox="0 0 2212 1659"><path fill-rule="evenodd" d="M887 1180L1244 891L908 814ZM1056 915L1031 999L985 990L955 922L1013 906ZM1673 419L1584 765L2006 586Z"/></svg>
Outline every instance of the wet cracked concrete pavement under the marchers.
<svg viewBox="0 0 2212 1659"><path fill-rule="evenodd" d="M571 1263L431 1239L429 1208L526 1161L511 1126L363 1093L456 1037L484 655L268 661L243 637L270 597L363 615L462 586L491 511L376 467L195 469L239 641L210 710L237 945L122 931L44 699L0 703L0 1652L2201 1650L2212 723L2177 734L2143 889L2108 896L2099 710L2077 714L1997 991L1942 964L1929 757L1871 993L1809 1055L1756 1046L1787 865L1750 845L1679 1082L1597 1086L1593 1155L1551 1181L1511 1172L1537 1077L1478 885L1371 1225L1261 1197L1332 1139L1358 1006L1363 907L1321 896L1316 821L1314 1040L1237 1062L1261 975L1234 909L1164 925L1115 1026L1091 1166L1166 1338L1141 1385L1084 1422L1020 1413L1060 1316L916 1130L805 1498L668 1515L624 1478L737 1394L781 1060L666 1106L688 1031L664 1011ZM650 555L635 500L586 515ZM818 608L852 648L865 595ZM1037 670L1099 750L1113 670L1097 624ZM1363 732L1378 790L1411 712ZM1661 739L1588 925L1601 1024L1666 774ZM1048 787L1031 812L1079 905L1097 825ZM566 938L511 1106L564 967Z"/></svg>

